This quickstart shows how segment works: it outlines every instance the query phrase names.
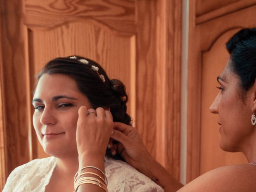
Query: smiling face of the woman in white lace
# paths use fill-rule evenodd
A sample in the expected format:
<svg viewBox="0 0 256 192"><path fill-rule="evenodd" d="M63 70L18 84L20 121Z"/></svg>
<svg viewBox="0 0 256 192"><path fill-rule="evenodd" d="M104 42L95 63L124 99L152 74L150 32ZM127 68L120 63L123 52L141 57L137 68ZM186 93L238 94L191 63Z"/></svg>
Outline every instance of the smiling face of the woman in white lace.
<svg viewBox="0 0 256 192"><path fill-rule="evenodd" d="M63 74L43 74L32 104L34 129L44 151L56 157L77 154L78 109L90 108L90 102L76 82Z"/></svg>

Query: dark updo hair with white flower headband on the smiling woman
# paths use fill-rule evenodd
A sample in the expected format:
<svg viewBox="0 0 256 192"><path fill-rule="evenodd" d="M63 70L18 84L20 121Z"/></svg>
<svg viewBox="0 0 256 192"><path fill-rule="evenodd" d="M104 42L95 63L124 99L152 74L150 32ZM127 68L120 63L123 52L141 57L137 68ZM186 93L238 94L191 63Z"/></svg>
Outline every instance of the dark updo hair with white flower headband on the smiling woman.
<svg viewBox="0 0 256 192"><path fill-rule="evenodd" d="M131 118L126 113L128 96L124 84L117 79L110 80L104 69L93 60L80 56L55 58L44 66L37 80L43 74L69 76L76 81L78 89L88 98L92 108L110 108L114 122L130 124ZM108 150L106 154L112 156Z"/></svg>

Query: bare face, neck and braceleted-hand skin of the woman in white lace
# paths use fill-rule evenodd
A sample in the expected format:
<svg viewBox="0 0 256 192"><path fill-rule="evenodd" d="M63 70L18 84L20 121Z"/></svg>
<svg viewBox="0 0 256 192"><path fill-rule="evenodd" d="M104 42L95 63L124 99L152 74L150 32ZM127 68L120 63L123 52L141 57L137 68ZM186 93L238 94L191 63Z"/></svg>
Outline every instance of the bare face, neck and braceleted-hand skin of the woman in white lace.
<svg viewBox="0 0 256 192"><path fill-rule="evenodd" d="M108 110L91 109L76 82L62 74L43 74L32 104L38 140L44 151L57 160L46 192L73 191L74 175L84 166L96 166L104 171L104 154L113 129L112 115ZM88 110L95 114L88 114ZM101 174L95 169L86 171ZM103 190L98 186L83 185L78 191Z"/></svg>

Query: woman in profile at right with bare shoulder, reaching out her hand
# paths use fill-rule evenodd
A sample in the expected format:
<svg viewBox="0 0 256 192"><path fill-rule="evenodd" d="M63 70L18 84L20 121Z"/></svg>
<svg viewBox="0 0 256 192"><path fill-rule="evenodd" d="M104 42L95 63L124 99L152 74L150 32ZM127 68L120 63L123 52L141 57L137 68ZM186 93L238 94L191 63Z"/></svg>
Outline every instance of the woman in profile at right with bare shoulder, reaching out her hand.
<svg viewBox="0 0 256 192"><path fill-rule="evenodd" d="M249 164L211 170L181 188L150 156L135 128L114 122L111 137L123 144L125 150L121 156L149 178L156 178L165 192L179 188L179 192L256 191L256 28L240 30L226 43L226 48L230 58L217 78L220 92L210 112L219 115L220 147L229 152L243 152Z"/></svg>

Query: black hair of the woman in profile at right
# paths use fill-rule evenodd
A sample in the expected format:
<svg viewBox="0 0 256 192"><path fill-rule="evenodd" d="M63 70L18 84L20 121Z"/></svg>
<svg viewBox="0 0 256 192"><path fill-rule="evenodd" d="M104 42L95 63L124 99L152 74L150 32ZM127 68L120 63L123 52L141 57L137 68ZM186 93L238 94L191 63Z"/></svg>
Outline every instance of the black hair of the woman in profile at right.
<svg viewBox="0 0 256 192"><path fill-rule="evenodd" d="M256 78L256 28L238 31L226 43L231 70L240 78L240 87L247 92Z"/></svg>

